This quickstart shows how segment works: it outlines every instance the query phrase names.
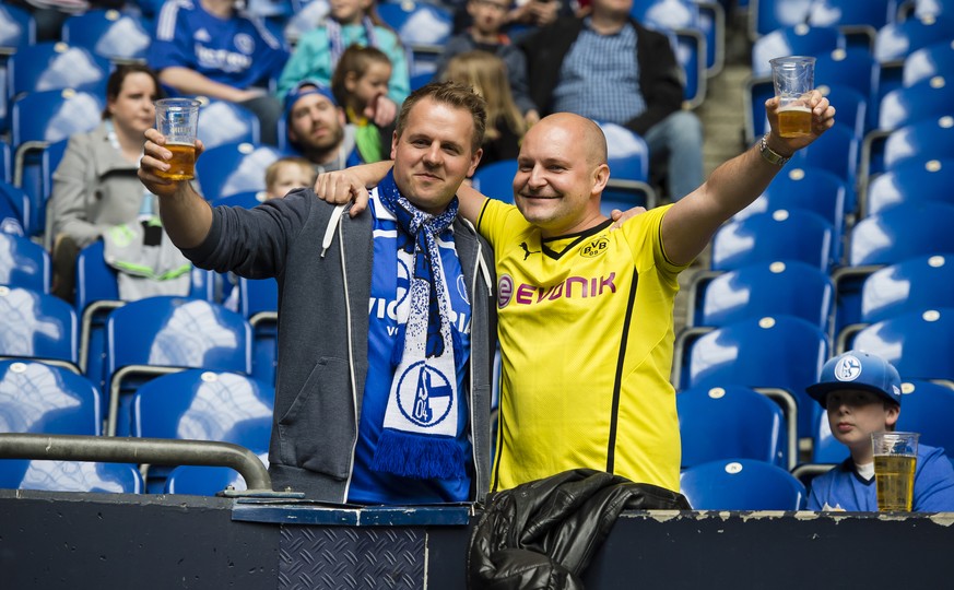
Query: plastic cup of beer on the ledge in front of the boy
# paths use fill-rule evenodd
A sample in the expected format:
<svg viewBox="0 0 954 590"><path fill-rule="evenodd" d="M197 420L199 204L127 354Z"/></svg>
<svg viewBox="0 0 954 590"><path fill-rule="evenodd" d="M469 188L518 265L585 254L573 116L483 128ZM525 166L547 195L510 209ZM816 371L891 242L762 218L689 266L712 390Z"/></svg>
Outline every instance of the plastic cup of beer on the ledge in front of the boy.
<svg viewBox="0 0 954 590"><path fill-rule="evenodd" d="M917 433L872 433L878 509L910 512L915 498L915 468L918 463Z"/></svg>

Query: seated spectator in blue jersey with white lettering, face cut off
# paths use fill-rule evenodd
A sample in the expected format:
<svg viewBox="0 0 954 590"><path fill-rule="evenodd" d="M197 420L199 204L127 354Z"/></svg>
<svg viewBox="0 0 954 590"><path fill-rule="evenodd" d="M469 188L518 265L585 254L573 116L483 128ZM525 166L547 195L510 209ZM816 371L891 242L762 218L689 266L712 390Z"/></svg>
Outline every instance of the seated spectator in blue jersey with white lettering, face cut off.
<svg viewBox="0 0 954 590"><path fill-rule="evenodd" d="M236 9L237 0L167 0L156 17L149 64L176 94L239 104L261 122L261 141L275 145L281 102L269 80L288 49L258 16Z"/></svg>

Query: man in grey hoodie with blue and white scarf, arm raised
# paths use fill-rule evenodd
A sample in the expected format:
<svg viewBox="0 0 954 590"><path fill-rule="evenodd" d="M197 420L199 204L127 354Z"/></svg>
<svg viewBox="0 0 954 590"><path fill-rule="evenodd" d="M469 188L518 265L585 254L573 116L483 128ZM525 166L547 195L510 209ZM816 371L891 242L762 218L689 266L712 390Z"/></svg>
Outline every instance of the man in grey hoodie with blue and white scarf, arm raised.
<svg viewBox="0 0 954 590"><path fill-rule="evenodd" d="M486 494L494 262L457 216L456 196L485 126L471 88L415 91L391 143L393 172L354 217L311 189L212 209L188 181L157 176L172 154L146 131L139 176L186 257L278 280L276 489L361 504Z"/></svg>

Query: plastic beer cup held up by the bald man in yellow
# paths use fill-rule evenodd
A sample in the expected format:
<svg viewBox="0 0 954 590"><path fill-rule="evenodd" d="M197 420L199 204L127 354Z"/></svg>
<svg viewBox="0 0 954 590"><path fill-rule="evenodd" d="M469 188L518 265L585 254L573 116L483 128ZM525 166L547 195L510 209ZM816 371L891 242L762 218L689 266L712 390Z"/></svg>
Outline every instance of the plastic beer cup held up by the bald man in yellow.
<svg viewBox="0 0 954 590"><path fill-rule="evenodd" d="M806 94L815 84L815 58L789 56L768 60L778 96L778 132L784 138L812 134Z"/></svg>

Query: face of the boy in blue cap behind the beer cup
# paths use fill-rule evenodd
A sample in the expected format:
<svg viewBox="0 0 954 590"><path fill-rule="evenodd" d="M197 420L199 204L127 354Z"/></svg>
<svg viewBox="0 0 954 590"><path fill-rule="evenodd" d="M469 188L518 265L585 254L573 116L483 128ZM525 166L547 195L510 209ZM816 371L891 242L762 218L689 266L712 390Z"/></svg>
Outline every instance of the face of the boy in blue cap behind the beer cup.
<svg viewBox="0 0 954 590"><path fill-rule="evenodd" d="M893 427L900 408L885 403L876 393L845 389L828 393L825 411L835 438L851 449L856 462L867 462L872 456L871 433Z"/></svg>

